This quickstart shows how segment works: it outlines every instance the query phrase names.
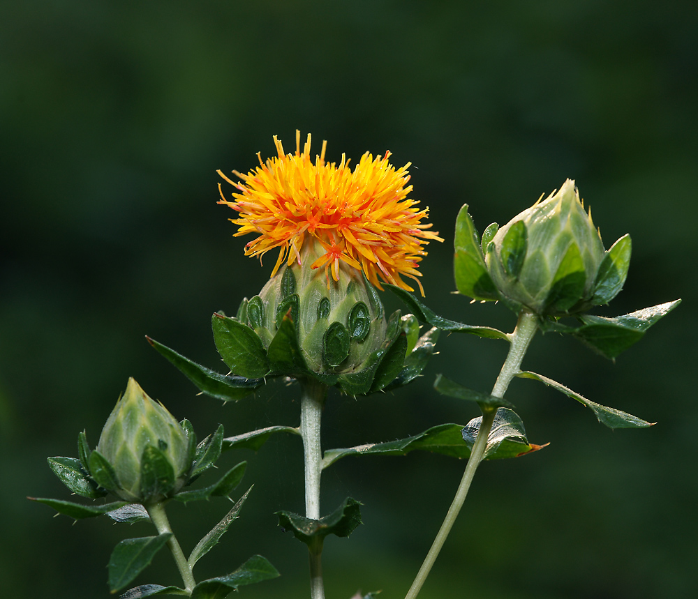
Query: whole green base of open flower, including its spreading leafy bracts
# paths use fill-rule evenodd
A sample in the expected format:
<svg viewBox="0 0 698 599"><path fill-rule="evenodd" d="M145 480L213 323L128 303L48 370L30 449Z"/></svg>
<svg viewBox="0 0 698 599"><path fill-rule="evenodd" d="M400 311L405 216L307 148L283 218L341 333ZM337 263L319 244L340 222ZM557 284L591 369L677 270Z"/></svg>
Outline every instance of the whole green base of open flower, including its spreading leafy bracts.
<svg viewBox="0 0 698 599"><path fill-rule="evenodd" d="M419 323L399 310L385 318L376 290L359 269L339 263L339 280L311 268L321 247L307 243L299 262L282 266L235 317L211 319L216 349L230 368L219 374L165 345L152 346L200 391L238 400L271 377L319 381L347 395L405 385L433 354L439 329L419 336Z"/></svg>

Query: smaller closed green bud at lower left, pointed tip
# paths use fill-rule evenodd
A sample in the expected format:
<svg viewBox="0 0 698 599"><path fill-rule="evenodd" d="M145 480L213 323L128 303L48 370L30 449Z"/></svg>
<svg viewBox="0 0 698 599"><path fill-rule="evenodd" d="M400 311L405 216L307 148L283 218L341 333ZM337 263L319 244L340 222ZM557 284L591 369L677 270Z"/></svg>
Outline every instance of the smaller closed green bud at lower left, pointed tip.
<svg viewBox="0 0 698 599"><path fill-rule="evenodd" d="M172 414L128 379L89 464L98 483L121 499L159 501L186 482L191 448Z"/></svg>

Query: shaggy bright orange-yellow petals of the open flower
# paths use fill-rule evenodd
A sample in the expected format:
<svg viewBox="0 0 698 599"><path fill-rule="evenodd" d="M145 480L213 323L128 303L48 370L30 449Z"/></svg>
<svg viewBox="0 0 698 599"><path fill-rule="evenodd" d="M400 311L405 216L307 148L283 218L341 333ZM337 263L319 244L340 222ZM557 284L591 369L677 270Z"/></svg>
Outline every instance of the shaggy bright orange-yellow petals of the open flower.
<svg viewBox="0 0 698 599"><path fill-rule="evenodd" d="M246 256L259 256L279 248L279 257L272 277L284 261L302 264L304 244L320 245L320 257L311 268L325 267L339 280L340 262L362 270L378 289L383 282L408 291L413 289L402 280L406 276L417 282L419 261L426 256L422 246L431 240L443 241L431 224L422 223L429 208L420 210L419 202L408 198L410 162L396 169L383 158L373 158L369 152L352 171L349 160L342 155L337 165L325 162L327 142L322 142L320 156L311 161L311 136L300 151L300 132L296 131L295 154L284 154L281 141L274 136L277 157L262 162L248 174L233 171L242 181L234 183L220 170L225 181L238 192L232 201L225 199L221 184L221 199L237 211L238 218L230 220L239 225L235 236L248 233L258 237L245 246Z"/></svg>

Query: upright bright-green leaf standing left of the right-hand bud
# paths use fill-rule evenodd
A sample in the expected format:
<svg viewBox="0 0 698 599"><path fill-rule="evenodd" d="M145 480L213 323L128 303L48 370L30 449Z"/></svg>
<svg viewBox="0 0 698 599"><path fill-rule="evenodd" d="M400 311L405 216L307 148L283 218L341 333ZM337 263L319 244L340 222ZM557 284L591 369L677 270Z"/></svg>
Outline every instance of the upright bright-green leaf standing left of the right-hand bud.
<svg viewBox="0 0 698 599"><path fill-rule="evenodd" d="M468 204L463 204L456 218L454 248L454 276L459 293L481 301L499 299L499 292L484 263L473 219L468 214Z"/></svg>

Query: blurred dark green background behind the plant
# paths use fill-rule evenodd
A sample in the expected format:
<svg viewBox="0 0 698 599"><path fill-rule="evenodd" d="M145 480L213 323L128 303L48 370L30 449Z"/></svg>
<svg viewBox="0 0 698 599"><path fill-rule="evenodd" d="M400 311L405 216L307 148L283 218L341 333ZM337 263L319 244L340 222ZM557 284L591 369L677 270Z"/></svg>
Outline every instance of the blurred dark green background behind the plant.
<svg viewBox="0 0 698 599"><path fill-rule="evenodd" d="M615 365L538 337L524 367L658 425L611 432L565 396L514 381L510 399L544 451L484 464L420 598L692 597L698 217L698 8L694 0L76 1L0 5L0 594L106 597L112 547L144 525L52 518L27 495L69 499L45 463L96 443L133 376L200 436L298 423L297 388L221 407L144 341L220 367L209 328L273 266L245 259L215 170L246 171L312 132L327 157L413 162L413 197L445 243L422 263L426 301L510 331L514 314L454 296L452 241L467 202L480 231L577 179L607 247L634 252L605 314L683 297ZM386 298L392 308L397 304ZM452 335L424 378L394 394L331 395L325 447L387 441L475 406L436 395L437 372L489 391L505 344ZM249 461L241 520L198 577L249 555L282 572L249 598L307 596L304 547L274 510L300 511L299 441ZM325 545L327 596L404 596L463 463L430 454L348 458L325 472L323 511L346 495L364 523ZM242 488L240 490L242 492ZM188 552L228 509L172 506ZM138 582L178 582L163 552Z"/></svg>

